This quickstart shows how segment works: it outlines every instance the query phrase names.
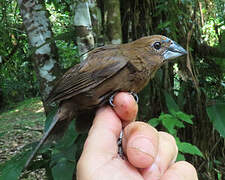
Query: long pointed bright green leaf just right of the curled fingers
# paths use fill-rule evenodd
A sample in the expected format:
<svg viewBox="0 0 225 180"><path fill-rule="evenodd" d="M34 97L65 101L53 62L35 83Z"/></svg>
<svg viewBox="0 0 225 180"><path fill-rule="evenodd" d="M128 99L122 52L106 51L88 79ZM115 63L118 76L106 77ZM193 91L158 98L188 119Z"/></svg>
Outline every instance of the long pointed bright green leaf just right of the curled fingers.
<svg viewBox="0 0 225 180"><path fill-rule="evenodd" d="M204 158L202 152L195 145L192 145L192 144L186 143L186 142L177 142L177 146L178 146L179 151L182 153L198 155L198 156Z"/></svg>

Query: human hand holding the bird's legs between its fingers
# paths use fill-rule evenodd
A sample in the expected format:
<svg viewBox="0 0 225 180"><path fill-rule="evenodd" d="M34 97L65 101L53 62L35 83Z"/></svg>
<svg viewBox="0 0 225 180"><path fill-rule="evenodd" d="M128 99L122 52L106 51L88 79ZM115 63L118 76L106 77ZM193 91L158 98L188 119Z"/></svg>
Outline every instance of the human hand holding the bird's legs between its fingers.
<svg viewBox="0 0 225 180"><path fill-rule="evenodd" d="M174 138L143 122L133 122L138 106L128 93L114 98L114 110L107 106L96 113L82 155L77 164L78 180L197 180L195 168L176 162ZM123 151L117 140L124 127Z"/></svg>

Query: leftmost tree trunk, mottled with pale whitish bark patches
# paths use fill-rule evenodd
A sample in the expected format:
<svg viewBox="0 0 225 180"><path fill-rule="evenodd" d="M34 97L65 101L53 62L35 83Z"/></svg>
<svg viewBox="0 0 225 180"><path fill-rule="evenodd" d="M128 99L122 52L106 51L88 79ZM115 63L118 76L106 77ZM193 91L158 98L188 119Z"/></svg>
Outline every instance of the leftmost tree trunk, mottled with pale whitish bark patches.
<svg viewBox="0 0 225 180"><path fill-rule="evenodd" d="M30 46L35 49L32 60L39 79L45 112L48 113L51 106L45 104L45 100L60 75L56 45L54 42L46 43L53 36L48 12L41 0L18 0L18 4Z"/></svg>

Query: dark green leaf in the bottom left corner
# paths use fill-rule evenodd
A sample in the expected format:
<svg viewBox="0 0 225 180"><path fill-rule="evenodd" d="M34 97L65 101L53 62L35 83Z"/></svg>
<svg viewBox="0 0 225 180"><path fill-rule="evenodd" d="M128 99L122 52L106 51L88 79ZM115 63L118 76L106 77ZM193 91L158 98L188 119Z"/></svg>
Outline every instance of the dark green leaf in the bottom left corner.
<svg viewBox="0 0 225 180"><path fill-rule="evenodd" d="M14 156L11 160L1 164L0 180L18 180L31 151Z"/></svg>

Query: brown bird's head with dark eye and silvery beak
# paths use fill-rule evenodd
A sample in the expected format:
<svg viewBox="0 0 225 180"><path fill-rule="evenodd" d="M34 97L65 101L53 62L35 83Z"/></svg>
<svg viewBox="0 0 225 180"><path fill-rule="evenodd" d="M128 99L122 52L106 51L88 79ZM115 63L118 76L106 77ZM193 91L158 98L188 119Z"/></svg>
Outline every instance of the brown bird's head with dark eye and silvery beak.
<svg viewBox="0 0 225 180"><path fill-rule="evenodd" d="M142 57L151 56L153 61L165 62L165 60L187 54L183 47L162 35L143 37L130 44L132 44L130 47L134 47L134 51L139 51Z"/></svg>

